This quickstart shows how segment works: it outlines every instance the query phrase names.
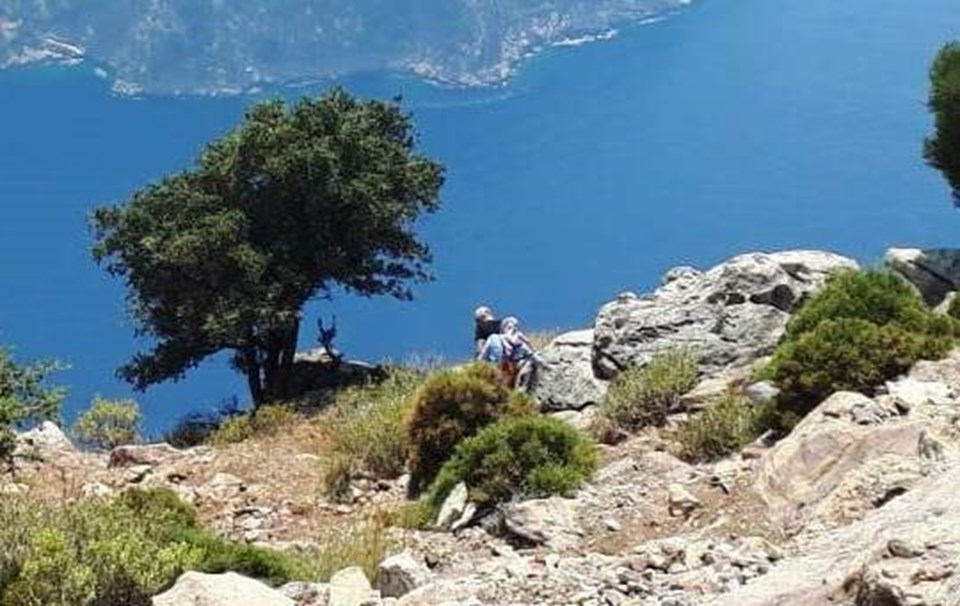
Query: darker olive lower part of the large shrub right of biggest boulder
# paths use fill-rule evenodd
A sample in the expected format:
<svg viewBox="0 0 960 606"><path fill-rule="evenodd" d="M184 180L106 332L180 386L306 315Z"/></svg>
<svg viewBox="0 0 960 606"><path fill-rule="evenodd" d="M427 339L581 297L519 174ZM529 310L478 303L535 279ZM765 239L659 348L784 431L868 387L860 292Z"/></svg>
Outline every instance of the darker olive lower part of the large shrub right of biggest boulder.
<svg viewBox="0 0 960 606"><path fill-rule="evenodd" d="M943 357L949 334L917 333L898 324L824 320L778 348L771 362L778 402L799 416L837 391L869 391L910 369L920 359Z"/></svg>

